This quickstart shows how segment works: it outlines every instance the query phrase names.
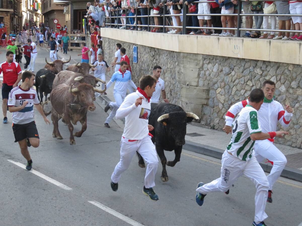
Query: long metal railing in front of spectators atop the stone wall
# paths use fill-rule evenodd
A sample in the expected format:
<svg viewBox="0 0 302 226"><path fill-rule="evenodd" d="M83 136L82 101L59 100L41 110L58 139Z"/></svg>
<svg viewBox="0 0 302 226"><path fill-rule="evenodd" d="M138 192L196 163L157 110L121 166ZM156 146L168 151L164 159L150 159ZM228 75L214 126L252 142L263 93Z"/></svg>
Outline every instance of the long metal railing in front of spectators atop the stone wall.
<svg viewBox="0 0 302 226"><path fill-rule="evenodd" d="M187 30L188 29L209 29L209 30L236 30L237 32L237 37L240 37L240 32L241 31L266 31L266 32L291 32L291 33L301 33L301 30L273 30L273 29L255 29L255 28L242 28L241 27L241 20L243 16L302 16L302 14L259 14L259 13L255 13L255 14L243 14L242 13L242 2L245 0L239 0L238 1L238 13L236 14L195 14L195 13L189 13L188 14L188 6L185 4L185 1L183 1L183 11L181 14L169 14L167 12L167 5L163 5L163 13L162 14L156 14L156 15L151 15L151 8L147 8L147 15L140 15L138 16L138 9L143 8L143 7L136 7L135 9L135 15L134 16L128 16L127 12L129 11L128 9L124 9L125 10L125 16L121 16L121 10L122 9L115 9L114 12L115 16L113 15L113 11L110 11L110 16L106 17L109 18L109 23L105 23L106 26L109 26L110 28L117 26L117 28L120 28L120 26L125 26L125 29L128 29L128 27L135 27L135 30L138 30L138 27L146 27L147 31L150 31L151 27L158 27L158 28L162 28L163 29L163 33L166 32L166 28L181 28L182 29L182 34L187 34ZM248 0L251 1L252 0ZM259 2L264 2L265 0L259 0ZM272 0L272 2L281 2L281 0ZM215 2L215 1L195 1L192 3L211 3L211 2ZM198 11L198 7L196 7L196 10ZM166 19L167 17L177 17L177 16L182 16L183 17L183 24L182 26L169 26L166 25ZM187 26L187 19L190 16L237 16L237 27L233 27L233 28L229 28L229 27L191 27L191 26ZM129 18L135 18L135 21L137 22L137 18L142 18L142 17L147 17L147 24L127 24L128 19ZM162 25L153 25L151 24L151 17L162 17L163 18L163 24ZM120 24L120 20L122 18L125 18L126 23L125 24ZM112 20L115 20L114 23L111 23Z"/></svg>

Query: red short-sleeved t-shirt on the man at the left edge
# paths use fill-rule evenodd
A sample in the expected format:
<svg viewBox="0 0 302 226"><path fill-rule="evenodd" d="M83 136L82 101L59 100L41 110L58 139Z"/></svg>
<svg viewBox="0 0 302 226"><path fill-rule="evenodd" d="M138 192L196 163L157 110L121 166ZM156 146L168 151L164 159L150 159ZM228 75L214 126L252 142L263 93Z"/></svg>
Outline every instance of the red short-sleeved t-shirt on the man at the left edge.
<svg viewBox="0 0 302 226"><path fill-rule="evenodd" d="M0 64L0 74L3 72L3 83L8 86L14 85L18 79L18 74L22 73L20 65L13 61L9 64L7 61Z"/></svg>

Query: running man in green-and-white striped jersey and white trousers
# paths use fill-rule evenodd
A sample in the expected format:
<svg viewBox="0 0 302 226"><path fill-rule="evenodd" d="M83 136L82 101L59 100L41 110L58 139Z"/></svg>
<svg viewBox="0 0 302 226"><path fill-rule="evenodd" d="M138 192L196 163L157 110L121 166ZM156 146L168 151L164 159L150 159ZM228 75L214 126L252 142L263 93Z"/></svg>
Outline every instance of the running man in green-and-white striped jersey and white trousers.
<svg viewBox="0 0 302 226"><path fill-rule="evenodd" d="M249 177L256 186L254 226L265 226L265 206L269 183L266 175L253 155L255 140L283 137L286 131L263 133L258 121L258 111L263 103L262 89L253 89L249 95L249 105L243 108L233 122L232 138L221 159L220 177L208 184L198 183L196 202L202 206L204 196L210 192L226 192L230 185L242 174Z"/></svg>

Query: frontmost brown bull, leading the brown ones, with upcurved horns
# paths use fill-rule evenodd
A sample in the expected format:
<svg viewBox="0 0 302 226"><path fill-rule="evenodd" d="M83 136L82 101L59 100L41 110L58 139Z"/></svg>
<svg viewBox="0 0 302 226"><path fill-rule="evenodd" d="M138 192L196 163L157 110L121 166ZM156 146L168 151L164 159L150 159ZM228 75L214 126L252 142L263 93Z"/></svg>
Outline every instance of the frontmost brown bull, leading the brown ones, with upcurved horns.
<svg viewBox="0 0 302 226"><path fill-rule="evenodd" d="M58 121L63 118L70 132L70 145L76 144L74 136L81 137L87 129L87 111L94 111L94 93L104 93L88 84L79 84L76 87L60 84L50 93L52 104L51 120L53 121L53 137L61 140L63 137L59 132ZM77 122L82 124L82 129L73 134L73 125Z"/></svg>

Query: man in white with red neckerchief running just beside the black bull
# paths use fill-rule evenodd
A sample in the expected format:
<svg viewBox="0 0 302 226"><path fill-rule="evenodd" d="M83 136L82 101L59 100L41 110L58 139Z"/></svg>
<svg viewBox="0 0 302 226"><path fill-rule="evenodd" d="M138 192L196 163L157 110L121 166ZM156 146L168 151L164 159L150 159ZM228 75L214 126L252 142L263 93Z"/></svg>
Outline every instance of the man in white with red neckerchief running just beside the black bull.
<svg viewBox="0 0 302 226"><path fill-rule="evenodd" d="M155 86L156 81L152 76L143 76L137 91L129 94L117 110L116 118L125 118L125 128L120 143L120 162L111 175L111 188L117 191L121 174L129 167L133 155L140 153L147 162L143 194L153 201L159 199L153 190L158 159L149 133L154 128L148 125L148 118L151 112L150 97Z"/></svg>

